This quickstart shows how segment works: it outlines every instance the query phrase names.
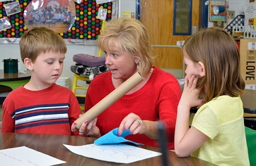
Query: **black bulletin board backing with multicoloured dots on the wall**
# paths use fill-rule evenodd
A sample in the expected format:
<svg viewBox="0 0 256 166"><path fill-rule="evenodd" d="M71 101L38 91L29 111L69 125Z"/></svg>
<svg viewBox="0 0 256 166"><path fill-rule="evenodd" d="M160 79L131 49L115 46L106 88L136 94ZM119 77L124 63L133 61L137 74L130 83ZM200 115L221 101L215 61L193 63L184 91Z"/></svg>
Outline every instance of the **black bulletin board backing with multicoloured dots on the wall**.
<svg viewBox="0 0 256 166"><path fill-rule="evenodd" d="M51 0L56 1L56 0ZM59 0L63 1L63 0ZM23 12L31 0L20 0L20 12L7 16L5 5L15 1L0 2L0 18L8 18L11 27L0 32L3 38L20 38L27 31L24 23ZM81 3L75 2L76 20L69 31L60 33L63 39L83 39L96 40L100 34L102 20L96 19L98 8L108 9L106 20L112 17L112 2L97 4L96 0L82 0Z"/></svg>

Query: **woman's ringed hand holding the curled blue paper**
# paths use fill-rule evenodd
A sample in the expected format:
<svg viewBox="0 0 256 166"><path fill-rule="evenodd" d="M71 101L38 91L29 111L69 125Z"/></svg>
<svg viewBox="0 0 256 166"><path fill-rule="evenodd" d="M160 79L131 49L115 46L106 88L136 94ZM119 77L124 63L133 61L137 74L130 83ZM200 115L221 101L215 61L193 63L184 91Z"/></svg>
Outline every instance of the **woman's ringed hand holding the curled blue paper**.
<svg viewBox="0 0 256 166"><path fill-rule="evenodd" d="M123 133L123 130L130 130L130 133L133 134L144 134L146 126L143 124L143 121L137 114L130 113L125 118L123 118L121 124L118 128L117 135L120 136Z"/></svg>

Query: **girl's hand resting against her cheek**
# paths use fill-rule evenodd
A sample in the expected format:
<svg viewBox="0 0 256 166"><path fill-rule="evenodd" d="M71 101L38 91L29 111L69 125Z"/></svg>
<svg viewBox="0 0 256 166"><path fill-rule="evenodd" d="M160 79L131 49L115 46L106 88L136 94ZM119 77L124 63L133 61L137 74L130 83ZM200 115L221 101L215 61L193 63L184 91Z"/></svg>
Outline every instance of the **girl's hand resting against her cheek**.
<svg viewBox="0 0 256 166"><path fill-rule="evenodd" d="M181 99L179 105L187 106L189 108L199 106L203 103L202 99L199 99L200 89L197 89L197 81L198 77L192 75L188 80L187 76L185 76L185 83L183 93L181 95Z"/></svg>

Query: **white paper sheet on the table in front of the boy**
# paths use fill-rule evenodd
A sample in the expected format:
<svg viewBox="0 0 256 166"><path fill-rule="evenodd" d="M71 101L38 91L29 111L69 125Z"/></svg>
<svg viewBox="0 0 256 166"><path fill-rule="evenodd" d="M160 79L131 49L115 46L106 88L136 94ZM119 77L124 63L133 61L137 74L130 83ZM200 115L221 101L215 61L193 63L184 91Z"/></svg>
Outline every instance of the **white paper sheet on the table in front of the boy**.
<svg viewBox="0 0 256 166"><path fill-rule="evenodd" d="M43 154L26 146L7 148L0 150L1 165L56 165L63 164L62 161L52 156Z"/></svg>

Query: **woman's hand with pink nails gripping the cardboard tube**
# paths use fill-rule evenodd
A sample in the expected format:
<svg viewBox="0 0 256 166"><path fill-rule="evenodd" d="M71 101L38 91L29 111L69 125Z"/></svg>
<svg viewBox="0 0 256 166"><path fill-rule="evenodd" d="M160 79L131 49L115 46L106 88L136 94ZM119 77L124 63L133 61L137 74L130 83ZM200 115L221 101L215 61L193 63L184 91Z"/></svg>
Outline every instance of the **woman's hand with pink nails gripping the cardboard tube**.
<svg viewBox="0 0 256 166"><path fill-rule="evenodd" d="M80 129L76 127L76 122L73 122L71 126L71 131L79 131L80 135L88 135L89 137L95 137L99 138L100 135L100 129L96 126L97 118L94 118L93 121L89 122L85 120L84 123L82 123Z"/></svg>

